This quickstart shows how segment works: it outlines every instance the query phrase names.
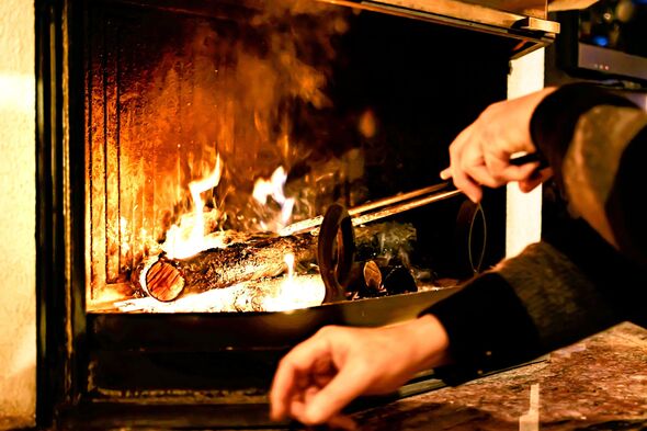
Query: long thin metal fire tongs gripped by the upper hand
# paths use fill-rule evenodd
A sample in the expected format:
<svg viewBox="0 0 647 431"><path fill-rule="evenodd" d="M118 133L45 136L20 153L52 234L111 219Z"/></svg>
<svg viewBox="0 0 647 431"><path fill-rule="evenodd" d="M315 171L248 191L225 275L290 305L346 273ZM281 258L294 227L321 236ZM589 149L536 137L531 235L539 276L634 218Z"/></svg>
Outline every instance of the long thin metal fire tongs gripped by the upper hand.
<svg viewBox="0 0 647 431"><path fill-rule="evenodd" d="M405 211L418 208L432 202L450 199L462 192L459 190L444 190L450 183L444 182L431 186L418 189L408 193L401 193L394 196L385 197L375 202L370 202L349 209L352 217L353 226L363 225L370 222L388 217ZM324 216L316 216L284 227L279 231L281 236L305 234L314 231L321 226Z"/></svg>

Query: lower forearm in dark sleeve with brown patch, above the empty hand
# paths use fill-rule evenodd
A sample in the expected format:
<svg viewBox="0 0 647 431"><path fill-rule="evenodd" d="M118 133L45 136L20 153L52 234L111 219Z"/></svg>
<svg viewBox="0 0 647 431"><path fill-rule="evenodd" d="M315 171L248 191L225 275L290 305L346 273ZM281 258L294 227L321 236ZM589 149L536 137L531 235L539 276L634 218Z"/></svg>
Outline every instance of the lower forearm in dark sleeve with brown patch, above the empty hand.
<svg viewBox="0 0 647 431"><path fill-rule="evenodd" d="M529 246L425 310L444 326L463 378L639 319L647 277L580 225L558 235L561 242Z"/></svg>

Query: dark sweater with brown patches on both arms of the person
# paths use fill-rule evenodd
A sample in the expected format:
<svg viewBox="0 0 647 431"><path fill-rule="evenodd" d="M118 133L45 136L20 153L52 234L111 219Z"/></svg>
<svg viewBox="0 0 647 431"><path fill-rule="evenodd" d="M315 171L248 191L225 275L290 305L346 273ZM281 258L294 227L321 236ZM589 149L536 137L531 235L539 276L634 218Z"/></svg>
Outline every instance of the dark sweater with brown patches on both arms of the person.
<svg viewBox="0 0 647 431"><path fill-rule="evenodd" d="M424 311L445 327L464 376L646 317L647 238L636 199L646 195L638 171L646 124L631 102L588 84L560 88L537 106L531 135L575 212Z"/></svg>

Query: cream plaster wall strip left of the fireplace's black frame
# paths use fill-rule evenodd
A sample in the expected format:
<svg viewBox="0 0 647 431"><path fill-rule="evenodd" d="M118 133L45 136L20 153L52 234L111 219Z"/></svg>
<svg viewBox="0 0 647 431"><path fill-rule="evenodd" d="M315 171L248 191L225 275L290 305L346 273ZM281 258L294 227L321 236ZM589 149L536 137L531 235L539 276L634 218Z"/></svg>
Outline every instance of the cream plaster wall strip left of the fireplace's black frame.
<svg viewBox="0 0 647 431"><path fill-rule="evenodd" d="M33 0L0 1L0 429L35 424Z"/></svg>

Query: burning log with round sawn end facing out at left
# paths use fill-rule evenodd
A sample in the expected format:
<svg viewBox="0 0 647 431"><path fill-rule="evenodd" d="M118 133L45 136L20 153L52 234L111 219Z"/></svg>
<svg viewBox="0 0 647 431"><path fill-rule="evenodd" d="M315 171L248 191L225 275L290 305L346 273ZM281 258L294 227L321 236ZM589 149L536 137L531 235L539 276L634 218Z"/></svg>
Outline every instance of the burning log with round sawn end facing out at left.
<svg viewBox="0 0 647 431"><path fill-rule="evenodd" d="M174 300L183 294L223 288L236 283L276 276L286 270L284 257L295 262L315 261L317 238L303 236L261 237L208 249L188 259L169 259L163 253L144 262L136 284L147 296Z"/></svg>

